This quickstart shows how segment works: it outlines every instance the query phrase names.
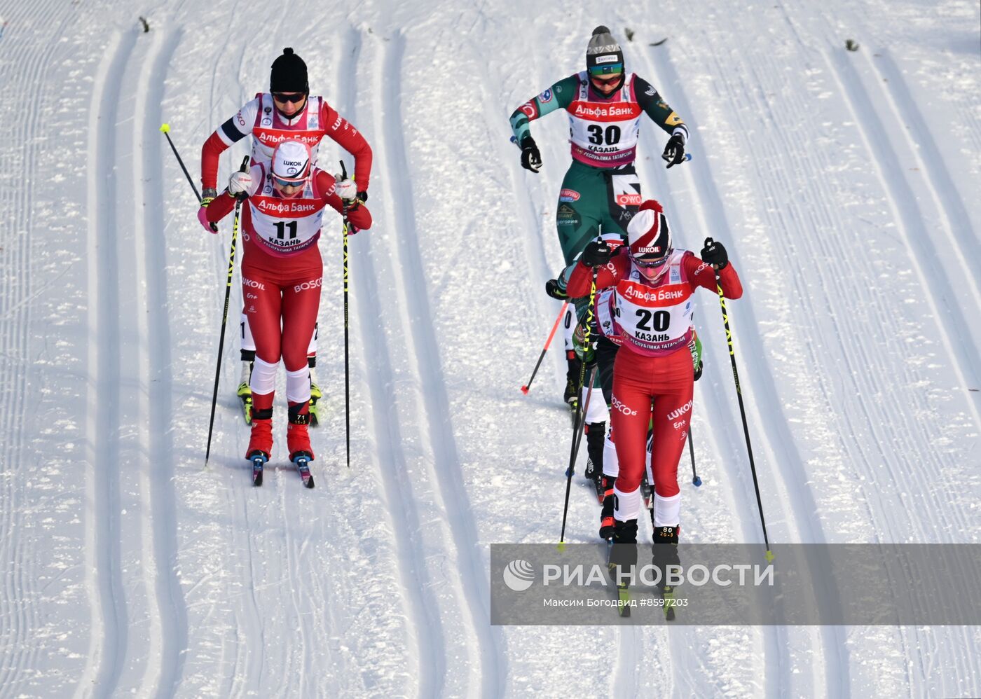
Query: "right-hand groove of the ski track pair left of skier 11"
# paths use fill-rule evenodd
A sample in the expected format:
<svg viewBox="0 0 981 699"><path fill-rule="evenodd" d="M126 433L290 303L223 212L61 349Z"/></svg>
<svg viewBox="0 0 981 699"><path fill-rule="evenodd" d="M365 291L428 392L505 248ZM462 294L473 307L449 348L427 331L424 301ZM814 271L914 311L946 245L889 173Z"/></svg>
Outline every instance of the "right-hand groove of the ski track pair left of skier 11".
<svg viewBox="0 0 981 699"><path fill-rule="evenodd" d="M168 309L167 248L160 222L164 204L159 187L163 177L162 138L156 125L162 120L167 67L181 40L181 31L160 27L146 57L149 72L140 75L133 110L133 181L139 190L142 217L135 217L137 286L140 289L140 443L145 452L143 496L143 550L153 552L152 567L144 566L147 596L154 605L151 617L151 658L143 677L145 695L172 696L178 689L187 647L187 608L178 579L176 456L171 437L172 393L171 329ZM153 590L151 596L149 590ZM152 671L152 674L151 674Z"/></svg>

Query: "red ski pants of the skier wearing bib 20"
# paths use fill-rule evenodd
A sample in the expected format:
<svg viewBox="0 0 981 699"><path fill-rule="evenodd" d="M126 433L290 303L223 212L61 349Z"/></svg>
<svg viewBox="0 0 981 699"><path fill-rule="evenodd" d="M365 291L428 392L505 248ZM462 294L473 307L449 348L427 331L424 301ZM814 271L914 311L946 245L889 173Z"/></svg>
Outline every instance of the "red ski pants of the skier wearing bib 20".
<svg viewBox="0 0 981 699"><path fill-rule="evenodd" d="M618 490L629 493L641 487L647 426L652 424L654 492L661 497L679 493L678 460L688 438L694 385L687 347L664 357L645 357L629 347L617 352L610 419L620 461Z"/></svg>

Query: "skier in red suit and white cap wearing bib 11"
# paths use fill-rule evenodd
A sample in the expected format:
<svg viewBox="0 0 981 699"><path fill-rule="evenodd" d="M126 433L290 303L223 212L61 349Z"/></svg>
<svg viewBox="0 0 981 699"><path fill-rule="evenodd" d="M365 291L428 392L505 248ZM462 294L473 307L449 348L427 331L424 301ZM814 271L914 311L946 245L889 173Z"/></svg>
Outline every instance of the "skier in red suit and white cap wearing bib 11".
<svg viewBox="0 0 981 699"><path fill-rule="evenodd" d="M233 173L228 189L205 210L216 223L242 207L242 299L255 338L252 390L252 435L245 458L268 460L273 451L273 397L280 359L286 368L288 420L286 445L290 461L306 454L313 461L307 432L310 374L307 346L320 308L320 238L324 207L347 207L348 232L371 227L368 208L350 179L313 167L309 147L299 140L278 145L270 163Z"/></svg>

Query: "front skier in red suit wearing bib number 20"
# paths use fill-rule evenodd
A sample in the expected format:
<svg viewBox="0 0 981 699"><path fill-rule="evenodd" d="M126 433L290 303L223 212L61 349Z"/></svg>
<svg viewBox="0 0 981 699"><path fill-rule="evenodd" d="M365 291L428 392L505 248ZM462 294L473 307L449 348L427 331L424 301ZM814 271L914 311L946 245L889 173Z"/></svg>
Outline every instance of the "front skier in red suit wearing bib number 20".
<svg viewBox="0 0 981 699"><path fill-rule="evenodd" d="M616 255L611 256L602 241L587 245L567 291L570 296L589 294L594 268L596 288L613 289L603 296L604 308L597 310L599 332L619 335L622 342L614 361L611 397L619 460L613 542L637 541L647 427L652 424L654 541L677 545L678 461L688 436L694 382L689 348L695 336L692 296L699 286L715 291L716 274L727 298L742 296L743 286L721 243L706 240L701 259L675 249L667 217L656 201L641 205L627 232L628 245Z"/></svg>

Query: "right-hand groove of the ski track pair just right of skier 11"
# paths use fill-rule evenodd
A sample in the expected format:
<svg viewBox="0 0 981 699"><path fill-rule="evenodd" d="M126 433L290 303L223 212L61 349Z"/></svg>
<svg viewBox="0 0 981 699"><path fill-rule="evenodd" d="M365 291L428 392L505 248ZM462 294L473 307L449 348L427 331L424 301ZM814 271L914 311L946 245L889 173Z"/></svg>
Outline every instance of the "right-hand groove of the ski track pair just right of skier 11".
<svg viewBox="0 0 981 699"><path fill-rule="evenodd" d="M405 36L399 33L389 39L385 51L384 75L388 89L382 113L387 114L381 125L380 134L385 154L383 171L386 174L388 199L392 209L398 212L398 241L401 265L396 277L401 281L402 297L407 301L402 323L410 325L407 333L409 354L415 365L418 384L415 386L417 406L421 409L423 420L420 428L428 433L429 449L424 462L430 475L430 482L439 487L439 509L450 529L452 549L447 547L450 560L457 565L447 569L447 576L453 586L453 595L464 608L459 610L463 622L462 632L467 640L467 653L471 656L471 668L480 668L480 687L482 696L496 697L502 694L499 674L505 664L500 657L500 648L490 628L490 610L485 605L489 599L486 569L479 548L477 526L470 513L469 496L460 474L460 461L450 424L449 400L445 379L441 373L439 344L430 321L429 288L426 273L419 253L419 231L416 227L411 184L402 183L399 175L409 173L408 155L405 148L401 122L402 95L402 56L405 50ZM398 119L393 119L398 115ZM381 160L381 159L380 159ZM393 219L394 221L395 219ZM426 438L426 435L420 435ZM452 555L454 554L455 555ZM476 653L477 659L473 659ZM473 693L473 687L470 692Z"/></svg>

